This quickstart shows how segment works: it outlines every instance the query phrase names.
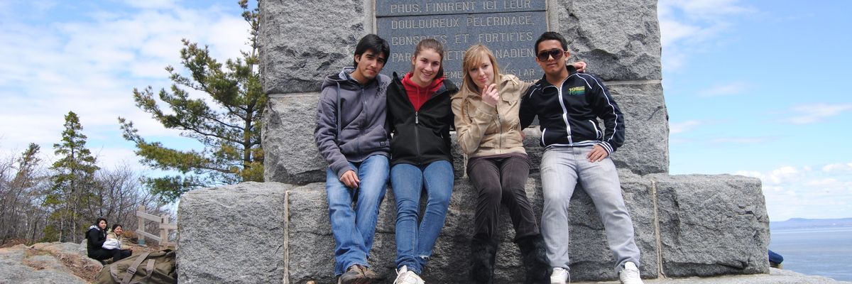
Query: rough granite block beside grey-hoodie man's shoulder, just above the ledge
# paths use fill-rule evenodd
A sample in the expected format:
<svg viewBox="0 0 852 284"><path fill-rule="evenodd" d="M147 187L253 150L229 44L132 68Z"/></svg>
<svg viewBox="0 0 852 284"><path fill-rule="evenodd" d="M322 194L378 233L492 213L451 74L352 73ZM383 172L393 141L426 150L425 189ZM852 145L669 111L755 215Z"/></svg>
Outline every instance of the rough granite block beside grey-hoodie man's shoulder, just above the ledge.
<svg viewBox="0 0 852 284"><path fill-rule="evenodd" d="M263 110L263 178L267 182L325 183L328 164L314 142L319 94L270 96Z"/></svg>

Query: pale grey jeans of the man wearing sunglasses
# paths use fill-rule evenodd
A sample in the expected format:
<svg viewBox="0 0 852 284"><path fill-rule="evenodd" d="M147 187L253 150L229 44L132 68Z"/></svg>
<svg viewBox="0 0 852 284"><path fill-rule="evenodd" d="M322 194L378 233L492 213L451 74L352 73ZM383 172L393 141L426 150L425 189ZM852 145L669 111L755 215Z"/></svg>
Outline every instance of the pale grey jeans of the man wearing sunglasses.
<svg viewBox="0 0 852 284"><path fill-rule="evenodd" d="M621 195L619 174L609 157L590 162L586 155L592 147L550 147L541 158L541 185L544 210L542 235L550 266L568 268L568 203L577 182L595 203L607 231L609 250L615 258L618 274L625 262L639 265L639 248L633 240L633 222Z"/></svg>

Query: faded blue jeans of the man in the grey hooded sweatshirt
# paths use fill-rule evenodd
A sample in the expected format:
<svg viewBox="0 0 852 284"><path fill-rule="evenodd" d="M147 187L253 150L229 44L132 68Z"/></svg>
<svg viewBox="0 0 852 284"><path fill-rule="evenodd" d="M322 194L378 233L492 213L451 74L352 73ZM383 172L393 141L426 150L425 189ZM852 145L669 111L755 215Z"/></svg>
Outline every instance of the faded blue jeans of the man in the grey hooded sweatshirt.
<svg viewBox="0 0 852 284"><path fill-rule="evenodd" d="M373 235L376 233L378 207L388 189L388 157L372 155L360 163L349 163L358 174L358 188L348 188L329 169L325 172L328 216L334 235L334 267L342 275L353 264L367 265ZM352 203L355 203L354 209Z"/></svg>

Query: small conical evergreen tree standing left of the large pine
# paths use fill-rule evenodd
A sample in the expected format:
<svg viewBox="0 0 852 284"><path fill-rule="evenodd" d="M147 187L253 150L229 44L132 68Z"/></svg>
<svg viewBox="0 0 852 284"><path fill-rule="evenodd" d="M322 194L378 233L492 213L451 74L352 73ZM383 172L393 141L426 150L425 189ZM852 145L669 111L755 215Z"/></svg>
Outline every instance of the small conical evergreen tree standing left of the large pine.
<svg viewBox="0 0 852 284"><path fill-rule="evenodd" d="M83 125L76 113L68 112L65 116L65 130L62 131L62 142L54 144L54 154L57 160L50 170L55 173L50 177L50 194L44 203L53 206L54 212L49 219L58 222L45 228L45 239L66 241L65 236L72 234L73 241L78 241L78 233L82 233L85 224L93 217L84 216L83 206L93 197L93 189L98 186L95 181L95 171L100 168L96 159L86 148L86 136L81 132Z"/></svg>

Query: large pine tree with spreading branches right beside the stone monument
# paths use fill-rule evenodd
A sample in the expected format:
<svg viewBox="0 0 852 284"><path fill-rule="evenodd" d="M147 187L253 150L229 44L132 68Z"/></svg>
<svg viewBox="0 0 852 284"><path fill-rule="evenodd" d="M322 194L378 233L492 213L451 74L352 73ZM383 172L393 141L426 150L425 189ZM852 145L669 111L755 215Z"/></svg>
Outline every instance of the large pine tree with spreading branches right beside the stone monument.
<svg viewBox="0 0 852 284"><path fill-rule="evenodd" d="M158 93L160 102L168 105L164 112L154 99L151 86L134 89L136 107L151 113L165 128L182 130L181 136L193 138L204 145L200 151L180 151L166 148L161 142L147 142L133 123L118 118L124 139L135 142L135 154L141 162L156 170L177 171L180 174L146 177L144 183L163 200L171 202L193 188L211 187L245 181L263 181L263 151L261 148L261 119L267 97L262 92L257 65L257 14L248 9L248 1L239 2L243 18L250 24L250 53L243 59L225 61L210 57L207 46L183 39L181 65L189 76L166 67L174 84L170 91ZM210 95L212 106L204 99L192 99L187 90L199 90Z"/></svg>

